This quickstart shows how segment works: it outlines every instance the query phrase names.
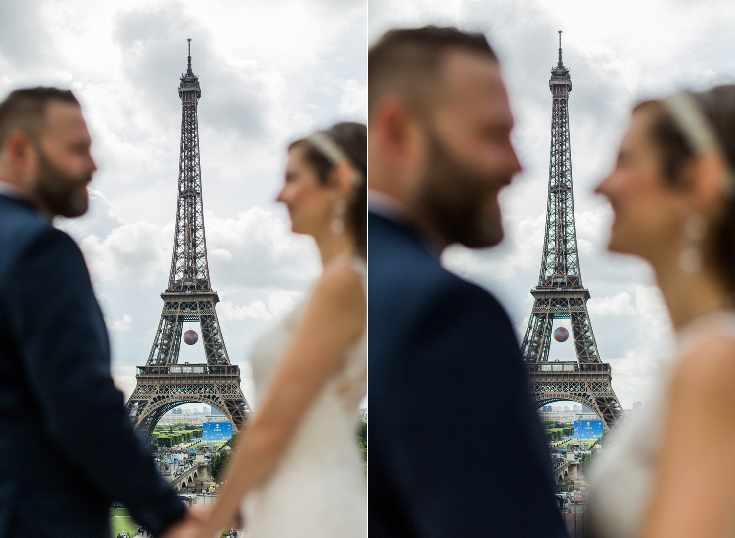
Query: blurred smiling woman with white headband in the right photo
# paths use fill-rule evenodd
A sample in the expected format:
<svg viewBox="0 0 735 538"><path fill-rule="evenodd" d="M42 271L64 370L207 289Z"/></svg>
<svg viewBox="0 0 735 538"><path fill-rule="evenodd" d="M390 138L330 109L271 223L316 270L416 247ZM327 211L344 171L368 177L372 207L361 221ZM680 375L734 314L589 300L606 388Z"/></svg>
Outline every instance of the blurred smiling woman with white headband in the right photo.
<svg viewBox="0 0 735 538"><path fill-rule="evenodd" d="M598 187L676 331L658 400L592 470L589 536L735 536L735 86L646 101ZM615 441L615 440L613 440Z"/></svg>

